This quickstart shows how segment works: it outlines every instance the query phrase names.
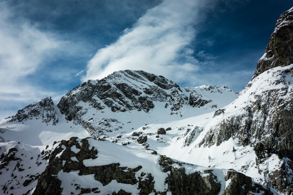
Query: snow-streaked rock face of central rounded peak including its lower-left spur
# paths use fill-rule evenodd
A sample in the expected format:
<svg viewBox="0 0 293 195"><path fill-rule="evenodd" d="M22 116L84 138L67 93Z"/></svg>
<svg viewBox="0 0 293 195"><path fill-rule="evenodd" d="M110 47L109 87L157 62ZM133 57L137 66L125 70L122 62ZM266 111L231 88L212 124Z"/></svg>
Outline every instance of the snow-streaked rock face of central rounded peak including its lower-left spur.
<svg viewBox="0 0 293 195"><path fill-rule="evenodd" d="M97 122L94 118L85 120L82 116L89 109L100 111L109 107L112 112L149 112L154 109L155 102L166 102L165 107L171 110L171 114L178 114L187 100L180 87L163 76L125 70L77 86L62 97L57 106L65 114L65 119L81 124L94 137L105 131L117 130L123 124L117 121L115 127Z"/></svg>

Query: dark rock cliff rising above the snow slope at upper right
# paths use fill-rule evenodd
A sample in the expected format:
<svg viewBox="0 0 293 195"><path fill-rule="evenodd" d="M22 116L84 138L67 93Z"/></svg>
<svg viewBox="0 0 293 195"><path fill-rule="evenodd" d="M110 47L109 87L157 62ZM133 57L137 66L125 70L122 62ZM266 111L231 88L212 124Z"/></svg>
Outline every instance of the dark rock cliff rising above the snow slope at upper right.
<svg viewBox="0 0 293 195"><path fill-rule="evenodd" d="M281 14L253 78L277 66L293 64L293 9Z"/></svg>

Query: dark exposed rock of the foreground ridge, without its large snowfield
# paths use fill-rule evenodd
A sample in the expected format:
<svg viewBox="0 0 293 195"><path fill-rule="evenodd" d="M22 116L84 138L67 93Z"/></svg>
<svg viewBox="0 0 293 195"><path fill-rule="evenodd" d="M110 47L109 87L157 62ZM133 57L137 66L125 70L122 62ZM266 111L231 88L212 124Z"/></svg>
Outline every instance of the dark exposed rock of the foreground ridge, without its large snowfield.
<svg viewBox="0 0 293 195"><path fill-rule="evenodd" d="M219 194L221 190L221 181L217 178L217 174L214 174L213 169L202 169L200 171L195 171L187 173L185 167L190 170L190 168L196 168L197 165L191 165L183 162L175 162L171 158L166 156L156 157L159 161L161 168L161 174L165 175L164 191L158 191L155 188L155 182L158 181L155 176L158 173L143 172L144 165L139 165L135 168L129 168L126 166L121 166L120 163L110 163L108 165L94 165L88 166L85 163L87 160L91 162L96 162L99 164L99 160L104 162L104 155L99 158L99 151L92 147L93 139L84 138L79 139L72 137L69 140L59 142L59 145L50 153L49 164L46 170L42 173L38 179L38 184L33 191L33 194L64 194L64 192L71 194L84 194L84 193L102 193L103 187L114 182L115 185L130 184L127 188L121 188L119 190L113 189L113 192L108 192L109 194L131 194L131 191L138 190L138 194L167 194L171 192L172 194ZM90 142L91 141L91 142ZM103 143L107 145L107 141L95 141L98 143ZM95 143L96 144L96 143ZM109 142L109 144L112 144ZM96 145L98 146L98 145ZM154 153L156 154L156 153ZM155 156L154 156L155 157ZM97 159L98 158L98 159ZM153 158L152 158L153 159ZM152 165L158 166L158 165ZM78 171L77 174L75 174ZM65 184L65 177L61 175L70 174L72 177L70 181L72 185L70 190L67 188L62 188L61 184ZM168 173L168 174L167 174ZM221 173L224 174L224 173ZM85 177L93 175L93 177ZM86 183L79 183L78 177L80 178L91 178L93 181L100 182L100 186L88 187ZM224 175L221 177L225 177ZM63 179L63 180L62 180ZM162 179L162 178L161 178ZM224 194L243 194L244 192L248 194L248 191L256 192L259 194L270 194L270 191L265 187L252 182L250 177L247 177L239 172L228 171L226 175L226 180L231 180L228 187L225 189ZM93 183L91 180L91 183ZM29 183L26 182L26 183ZM92 184L91 184L92 185ZM225 183L224 183L225 185ZM244 186L244 189L242 188ZM112 186L113 187L113 186ZM109 187L107 187L108 189ZM69 191L68 191L69 190ZM223 190L223 189L222 189ZM242 193L243 192L243 193Z"/></svg>

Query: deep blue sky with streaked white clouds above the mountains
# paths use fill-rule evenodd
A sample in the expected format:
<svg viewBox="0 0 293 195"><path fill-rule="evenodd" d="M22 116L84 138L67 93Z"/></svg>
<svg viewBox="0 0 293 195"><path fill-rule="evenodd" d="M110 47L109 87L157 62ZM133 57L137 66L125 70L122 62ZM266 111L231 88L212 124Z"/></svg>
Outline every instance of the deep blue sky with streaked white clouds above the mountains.
<svg viewBox="0 0 293 195"><path fill-rule="evenodd" d="M0 118L134 69L241 91L290 1L0 1Z"/></svg>

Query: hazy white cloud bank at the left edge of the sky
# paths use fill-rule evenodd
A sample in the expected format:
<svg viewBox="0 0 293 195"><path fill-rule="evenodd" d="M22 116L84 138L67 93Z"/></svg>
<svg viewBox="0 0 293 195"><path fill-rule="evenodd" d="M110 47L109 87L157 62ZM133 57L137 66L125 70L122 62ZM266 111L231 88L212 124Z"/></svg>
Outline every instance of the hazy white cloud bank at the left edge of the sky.
<svg viewBox="0 0 293 195"><path fill-rule="evenodd" d="M40 64L61 48L64 41L38 30L24 18L16 19L14 14L1 3L0 102L4 113L13 110L14 105L27 105L47 96L59 97L58 92L40 87L37 81L29 82L27 76L40 69Z"/></svg>

